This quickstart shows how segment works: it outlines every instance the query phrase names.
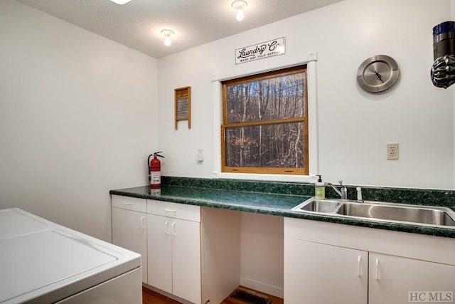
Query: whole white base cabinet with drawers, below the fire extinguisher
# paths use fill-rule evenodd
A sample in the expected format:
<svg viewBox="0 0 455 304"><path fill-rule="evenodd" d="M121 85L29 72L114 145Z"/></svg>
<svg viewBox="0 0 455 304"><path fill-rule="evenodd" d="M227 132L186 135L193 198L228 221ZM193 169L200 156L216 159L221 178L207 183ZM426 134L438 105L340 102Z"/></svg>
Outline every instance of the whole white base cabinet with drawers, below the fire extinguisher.
<svg viewBox="0 0 455 304"><path fill-rule="evenodd" d="M147 288L221 303L240 285L240 211L112 195L112 243L141 254Z"/></svg>

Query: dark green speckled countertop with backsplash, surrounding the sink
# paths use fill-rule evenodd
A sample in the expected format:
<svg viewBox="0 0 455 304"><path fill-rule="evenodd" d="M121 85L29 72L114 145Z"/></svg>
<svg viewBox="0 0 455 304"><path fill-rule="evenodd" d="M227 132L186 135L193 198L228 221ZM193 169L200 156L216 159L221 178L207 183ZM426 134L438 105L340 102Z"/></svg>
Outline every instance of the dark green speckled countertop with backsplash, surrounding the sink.
<svg viewBox="0 0 455 304"><path fill-rule="evenodd" d="M181 204L191 204L219 209L247 211L274 216L286 216L300 219L310 219L314 221L326 221L351 226L363 226L374 229L385 229L414 234L427 234L431 236L455 238L455 229L449 228L422 226L407 223L391 223L368 219L353 219L324 214L304 214L298 211L291 211L294 206L313 196L311 192L307 191L308 189L304 189L302 193L299 194L294 194L295 191L289 191L289 187L296 187L295 184L278 183L277 185L277 183L270 184L253 182L252 184L247 183L247 186L245 186L245 182L234 181L232 183L236 184L237 187L232 187L232 183L228 183L230 187L220 187L220 184L217 184L216 182L215 185L210 184L213 180L205 179L203 180L203 184L207 187L201 187L201 184L198 183L197 180L196 183L193 181L188 182L187 179L164 178L164 180L167 183L161 185L160 194L152 194L149 186L116 189L111 190L109 193L123 196L132 196L141 199L172 201ZM305 188L304 186L297 188L301 189L302 187ZM311 187L311 190L314 189L314 185L309 185L308 187ZM268 191L257 192L257 190L261 188L268 189ZM251 189L256 191L248 191ZM261 190L264 191L264 189ZM270 191L270 189L272 189L272 191ZM368 191L370 191L370 193L373 193L371 189L366 190L367 193L369 193ZM386 189L386 191L390 192L390 189ZM400 191L400 189L398 191ZM431 190L428 191L432 192ZM441 194L428 194L427 192L424 193L425 196L430 194L435 197L441 195L444 199L446 199L446 196L449 194L451 196L451 192L449 194L447 192ZM417 196L419 196L419 194L423 195L422 193L417 192ZM402 202L407 204L409 203L407 201ZM435 206L447 206L447 204L435 204Z"/></svg>

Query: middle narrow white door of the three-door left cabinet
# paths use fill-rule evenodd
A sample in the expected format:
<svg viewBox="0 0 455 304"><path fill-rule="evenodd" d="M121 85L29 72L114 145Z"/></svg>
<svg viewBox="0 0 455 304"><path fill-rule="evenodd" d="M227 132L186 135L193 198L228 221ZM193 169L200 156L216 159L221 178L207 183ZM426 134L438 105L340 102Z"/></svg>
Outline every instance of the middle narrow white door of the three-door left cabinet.
<svg viewBox="0 0 455 304"><path fill-rule="evenodd" d="M172 293L171 225L173 220L147 214L149 285Z"/></svg>

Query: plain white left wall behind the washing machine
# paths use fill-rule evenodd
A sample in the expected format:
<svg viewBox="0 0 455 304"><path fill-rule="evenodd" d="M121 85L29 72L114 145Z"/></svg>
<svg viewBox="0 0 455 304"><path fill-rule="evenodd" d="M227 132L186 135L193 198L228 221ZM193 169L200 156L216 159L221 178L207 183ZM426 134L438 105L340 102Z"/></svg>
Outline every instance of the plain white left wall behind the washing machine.
<svg viewBox="0 0 455 304"><path fill-rule="evenodd" d="M109 190L146 184L156 59L0 1L0 209L110 241Z"/></svg>

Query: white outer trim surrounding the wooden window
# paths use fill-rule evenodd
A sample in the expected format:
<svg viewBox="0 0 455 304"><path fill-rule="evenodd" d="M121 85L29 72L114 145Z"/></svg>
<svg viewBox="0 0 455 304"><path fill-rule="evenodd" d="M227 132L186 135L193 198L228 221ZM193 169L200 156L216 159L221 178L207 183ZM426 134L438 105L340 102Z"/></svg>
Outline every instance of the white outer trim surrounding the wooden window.
<svg viewBox="0 0 455 304"><path fill-rule="evenodd" d="M316 53L309 53L306 58L289 58L266 69L250 68L242 71L232 71L223 75L214 75L213 85L213 151L215 154L213 178L220 179L251 179L274 182L316 182L319 174L319 142L318 142L318 99L316 94ZM230 173L221 172L221 125L223 123L223 90L222 81L234 78L265 73L272 70L291 68L306 64L307 94L308 94L308 145L309 145L309 175L291 174L257 174L257 173Z"/></svg>

